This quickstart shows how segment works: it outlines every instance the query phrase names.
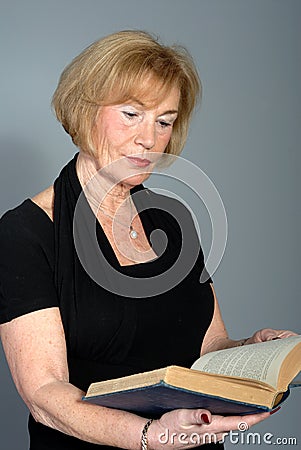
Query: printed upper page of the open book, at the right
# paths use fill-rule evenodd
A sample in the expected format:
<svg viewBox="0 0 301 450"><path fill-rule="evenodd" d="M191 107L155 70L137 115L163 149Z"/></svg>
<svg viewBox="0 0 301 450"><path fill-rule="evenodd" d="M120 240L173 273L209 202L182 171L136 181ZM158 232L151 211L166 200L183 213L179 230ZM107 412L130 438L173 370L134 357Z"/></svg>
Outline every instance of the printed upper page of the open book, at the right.
<svg viewBox="0 0 301 450"><path fill-rule="evenodd" d="M301 336L219 350L201 356L192 369L203 372L252 378L277 387L282 361L301 342Z"/></svg>

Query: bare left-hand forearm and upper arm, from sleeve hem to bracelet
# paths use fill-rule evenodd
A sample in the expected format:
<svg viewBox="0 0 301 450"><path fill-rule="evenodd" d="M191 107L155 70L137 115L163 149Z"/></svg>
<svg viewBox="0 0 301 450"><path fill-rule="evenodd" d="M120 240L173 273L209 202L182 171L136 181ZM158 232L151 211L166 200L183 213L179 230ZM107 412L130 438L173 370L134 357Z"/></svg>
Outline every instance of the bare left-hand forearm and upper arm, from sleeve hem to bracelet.
<svg viewBox="0 0 301 450"><path fill-rule="evenodd" d="M88 442L140 448L144 418L86 404L84 393L68 382L58 308L2 325L1 338L16 387L35 420Z"/></svg>

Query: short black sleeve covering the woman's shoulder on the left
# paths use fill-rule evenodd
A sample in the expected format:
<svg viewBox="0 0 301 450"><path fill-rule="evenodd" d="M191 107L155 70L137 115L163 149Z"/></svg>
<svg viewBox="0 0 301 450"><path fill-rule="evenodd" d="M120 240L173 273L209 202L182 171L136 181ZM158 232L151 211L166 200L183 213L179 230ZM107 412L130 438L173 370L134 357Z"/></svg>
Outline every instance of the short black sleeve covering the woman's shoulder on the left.
<svg viewBox="0 0 301 450"><path fill-rule="evenodd" d="M49 245L52 223L29 202L0 220L0 323L58 306Z"/></svg>

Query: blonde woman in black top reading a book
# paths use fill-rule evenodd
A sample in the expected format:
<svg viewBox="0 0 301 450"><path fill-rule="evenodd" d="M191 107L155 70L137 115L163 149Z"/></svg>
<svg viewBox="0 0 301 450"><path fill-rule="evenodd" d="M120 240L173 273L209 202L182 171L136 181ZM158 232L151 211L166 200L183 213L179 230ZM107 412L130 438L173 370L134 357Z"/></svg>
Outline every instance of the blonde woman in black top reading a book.
<svg viewBox="0 0 301 450"><path fill-rule="evenodd" d="M229 339L212 280L199 283L204 261L190 214L141 184L163 154L181 152L199 92L187 52L139 31L95 42L61 76L53 106L79 154L53 186L0 223L1 338L31 413L32 450L190 448L180 442L162 445L159 435L168 428L201 438L215 433L220 440L242 420L251 426L269 416L221 417L183 409L150 423L81 401L93 381L168 364L189 367L200 351L292 334L265 329L249 339ZM75 227L73 240L83 188L84 222L93 211L97 245L110 267L97 268L95 276L93 264L90 273L83 267L90 231L80 241ZM113 272L131 286L134 278L147 284L172 267L186 226L197 255L185 277L149 296L118 291ZM165 249L160 239L151 245L157 228L167 235Z"/></svg>

